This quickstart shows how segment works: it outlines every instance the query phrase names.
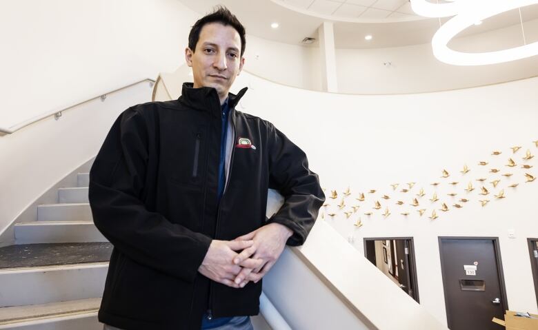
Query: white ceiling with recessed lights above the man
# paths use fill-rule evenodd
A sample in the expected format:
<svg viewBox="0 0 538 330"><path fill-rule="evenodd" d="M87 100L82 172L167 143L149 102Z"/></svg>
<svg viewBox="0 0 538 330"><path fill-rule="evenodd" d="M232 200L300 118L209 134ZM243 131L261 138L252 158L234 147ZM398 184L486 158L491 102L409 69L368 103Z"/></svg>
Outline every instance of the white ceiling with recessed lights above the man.
<svg viewBox="0 0 538 330"><path fill-rule="evenodd" d="M246 26L247 34L293 45L301 45L305 37L317 38L317 28L324 21L334 23L336 48L388 48L430 43L439 24L447 20L412 14L408 0L178 1L200 15L211 12L217 5L226 6ZM381 14L379 10L384 12ZM521 8L521 13L524 22L538 19L538 5ZM279 28L270 27L274 22L279 23ZM519 11L512 10L486 19L481 25L473 25L459 36L519 23ZM371 34L372 40L366 41L366 34ZM317 47L317 43L309 47Z"/></svg>

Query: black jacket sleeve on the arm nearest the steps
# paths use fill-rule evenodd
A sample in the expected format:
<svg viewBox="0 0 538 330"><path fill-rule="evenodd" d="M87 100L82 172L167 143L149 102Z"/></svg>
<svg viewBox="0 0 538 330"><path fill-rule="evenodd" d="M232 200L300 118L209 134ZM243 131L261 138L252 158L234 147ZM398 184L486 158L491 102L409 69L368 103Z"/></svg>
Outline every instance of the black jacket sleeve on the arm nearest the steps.
<svg viewBox="0 0 538 330"><path fill-rule="evenodd" d="M93 220L121 254L192 282L211 238L171 223L143 203L148 160L156 156L148 143L155 138L148 126L135 108L123 112L112 125L90 170Z"/></svg>

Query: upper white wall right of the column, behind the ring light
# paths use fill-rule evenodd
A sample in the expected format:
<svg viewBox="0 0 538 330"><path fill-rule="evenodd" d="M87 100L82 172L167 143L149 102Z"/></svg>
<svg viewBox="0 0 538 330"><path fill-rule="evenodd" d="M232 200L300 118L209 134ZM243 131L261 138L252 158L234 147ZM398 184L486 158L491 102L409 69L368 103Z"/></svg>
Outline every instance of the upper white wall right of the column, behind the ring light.
<svg viewBox="0 0 538 330"><path fill-rule="evenodd" d="M527 42L538 40L538 19L525 24ZM455 39L461 52L486 52L521 45L521 26ZM453 90L513 81L538 75L538 56L481 66L457 66L438 61L430 43L397 48L337 49L341 93L402 94ZM383 65L390 62L392 65Z"/></svg>

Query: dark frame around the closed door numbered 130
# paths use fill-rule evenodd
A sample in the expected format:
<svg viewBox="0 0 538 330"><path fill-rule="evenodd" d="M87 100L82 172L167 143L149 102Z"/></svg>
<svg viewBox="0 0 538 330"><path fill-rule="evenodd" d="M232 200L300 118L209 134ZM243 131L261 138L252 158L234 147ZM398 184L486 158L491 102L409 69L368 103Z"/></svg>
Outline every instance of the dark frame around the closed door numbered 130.
<svg viewBox="0 0 538 330"><path fill-rule="evenodd" d="M503 301L504 311L509 311L508 299L506 298L506 285L504 284L503 262L501 260L501 249L499 247L498 237L481 237L481 236L439 236L439 258L441 259L441 278L443 280L443 294L445 296L446 322L450 328L450 310L448 309L446 285L445 285L445 269L443 260L443 243L442 240L492 240L495 247L495 259L497 260L497 276L499 276L499 289L501 289L501 299Z"/></svg>

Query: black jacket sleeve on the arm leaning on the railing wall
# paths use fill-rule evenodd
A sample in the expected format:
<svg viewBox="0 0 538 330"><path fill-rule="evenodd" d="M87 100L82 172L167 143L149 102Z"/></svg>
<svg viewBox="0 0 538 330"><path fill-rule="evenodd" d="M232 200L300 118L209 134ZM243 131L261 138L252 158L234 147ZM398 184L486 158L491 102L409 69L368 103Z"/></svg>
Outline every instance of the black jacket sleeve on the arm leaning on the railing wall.
<svg viewBox="0 0 538 330"><path fill-rule="evenodd" d="M325 194L317 174L308 169L303 150L272 125L268 147L269 187L279 190L284 203L267 223L280 223L292 229L287 245L303 245L325 201Z"/></svg>

